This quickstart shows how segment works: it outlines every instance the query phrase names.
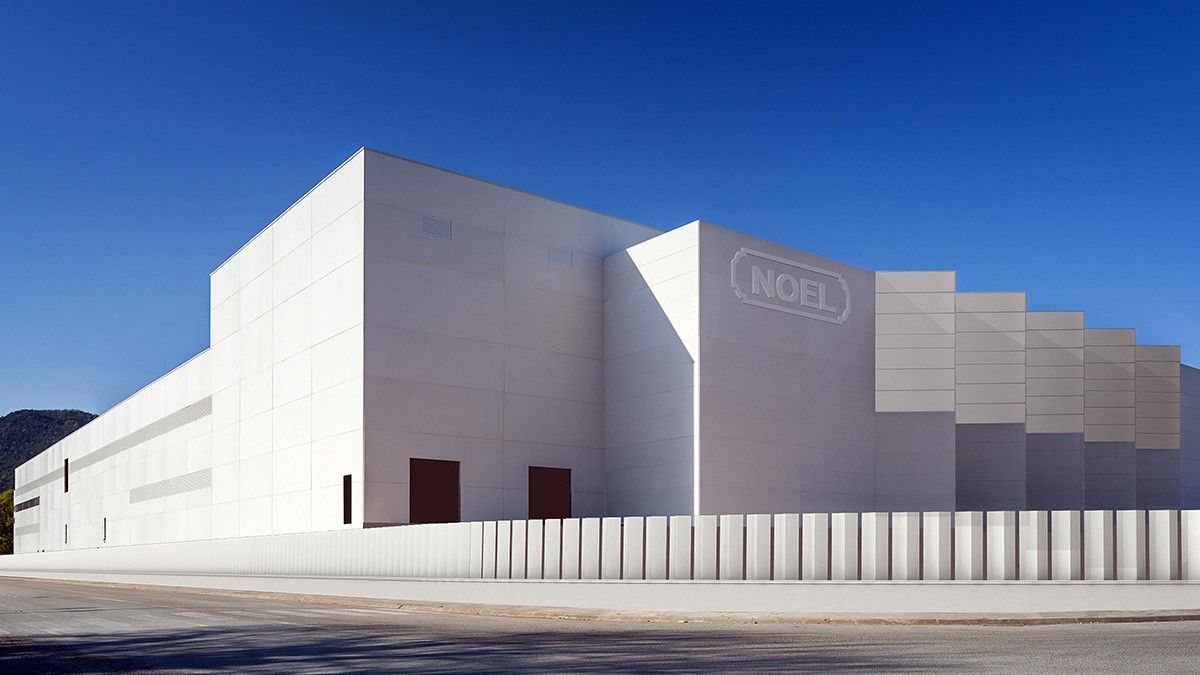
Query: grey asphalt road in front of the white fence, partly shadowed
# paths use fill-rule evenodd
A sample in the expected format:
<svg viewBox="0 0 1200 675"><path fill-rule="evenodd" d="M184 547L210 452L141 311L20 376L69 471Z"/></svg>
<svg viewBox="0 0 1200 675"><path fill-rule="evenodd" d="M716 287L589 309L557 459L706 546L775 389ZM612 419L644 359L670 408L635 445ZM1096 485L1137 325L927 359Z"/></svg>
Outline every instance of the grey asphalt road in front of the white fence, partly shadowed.
<svg viewBox="0 0 1200 675"><path fill-rule="evenodd" d="M1200 622L661 623L0 578L0 673L1190 671Z"/></svg>

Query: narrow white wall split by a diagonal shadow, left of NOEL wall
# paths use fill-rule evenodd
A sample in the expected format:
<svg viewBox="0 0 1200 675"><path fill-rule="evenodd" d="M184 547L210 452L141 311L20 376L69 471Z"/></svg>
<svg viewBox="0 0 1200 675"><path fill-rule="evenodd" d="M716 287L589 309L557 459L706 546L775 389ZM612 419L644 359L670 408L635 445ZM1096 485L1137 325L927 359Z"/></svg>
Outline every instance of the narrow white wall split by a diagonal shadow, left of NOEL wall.
<svg viewBox="0 0 1200 675"><path fill-rule="evenodd" d="M685 225L604 262L610 514L695 508L700 227Z"/></svg>

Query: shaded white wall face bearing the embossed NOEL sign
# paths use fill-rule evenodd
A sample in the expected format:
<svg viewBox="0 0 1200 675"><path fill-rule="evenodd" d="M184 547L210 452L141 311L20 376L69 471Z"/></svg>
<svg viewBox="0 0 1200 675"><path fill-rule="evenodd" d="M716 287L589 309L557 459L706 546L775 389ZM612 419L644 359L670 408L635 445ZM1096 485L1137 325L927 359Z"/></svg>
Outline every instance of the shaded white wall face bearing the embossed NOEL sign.
<svg viewBox="0 0 1200 675"><path fill-rule="evenodd" d="M874 353L872 273L701 223L697 512L872 509Z"/></svg>

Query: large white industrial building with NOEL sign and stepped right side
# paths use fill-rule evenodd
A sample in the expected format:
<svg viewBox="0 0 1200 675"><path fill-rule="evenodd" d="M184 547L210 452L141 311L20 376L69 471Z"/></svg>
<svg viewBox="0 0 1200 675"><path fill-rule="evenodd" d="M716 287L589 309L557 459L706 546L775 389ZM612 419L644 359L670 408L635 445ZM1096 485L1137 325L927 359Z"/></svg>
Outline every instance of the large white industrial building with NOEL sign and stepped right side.
<svg viewBox="0 0 1200 675"><path fill-rule="evenodd" d="M212 273L210 311L209 350L17 470L18 552L1200 506L1178 347L953 271L664 233L366 149Z"/></svg>

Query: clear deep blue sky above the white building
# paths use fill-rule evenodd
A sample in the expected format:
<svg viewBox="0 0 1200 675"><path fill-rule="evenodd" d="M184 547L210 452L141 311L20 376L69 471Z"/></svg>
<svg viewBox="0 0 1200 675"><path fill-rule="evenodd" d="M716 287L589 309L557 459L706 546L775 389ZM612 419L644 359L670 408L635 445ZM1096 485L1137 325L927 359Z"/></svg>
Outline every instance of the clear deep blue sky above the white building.
<svg viewBox="0 0 1200 675"><path fill-rule="evenodd" d="M0 413L203 350L209 271L361 145L1200 362L1196 4L42 5L0 7Z"/></svg>

